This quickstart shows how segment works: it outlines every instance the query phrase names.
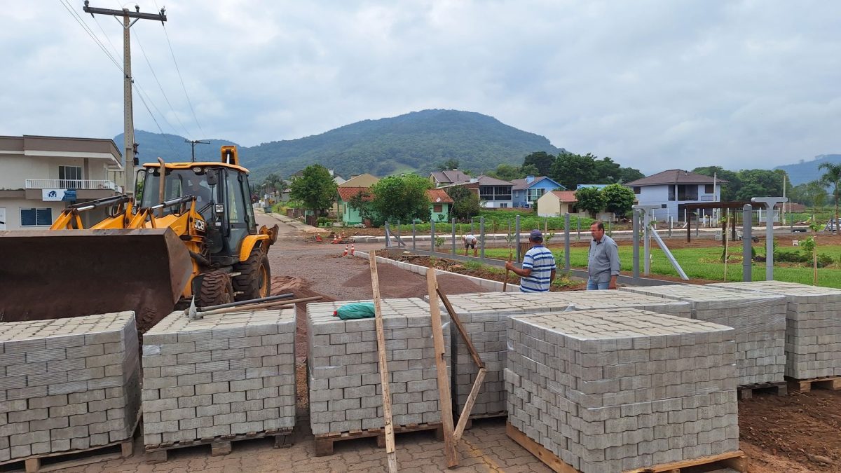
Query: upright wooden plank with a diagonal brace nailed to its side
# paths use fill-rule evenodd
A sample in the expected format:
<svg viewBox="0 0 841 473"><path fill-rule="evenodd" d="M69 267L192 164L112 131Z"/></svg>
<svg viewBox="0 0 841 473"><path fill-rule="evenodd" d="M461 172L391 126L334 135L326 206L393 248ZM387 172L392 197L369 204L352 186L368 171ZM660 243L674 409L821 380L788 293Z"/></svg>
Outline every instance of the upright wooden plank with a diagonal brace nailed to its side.
<svg viewBox="0 0 841 473"><path fill-rule="evenodd" d="M458 466L456 439L452 436L452 396L450 376L447 375L447 356L444 348L444 330L441 323L441 307L438 306L438 281L435 268L426 269L426 288L429 290L429 312L432 325L432 343L435 346L435 370L438 376L438 404L441 406L441 421L444 430L444 454L447 468Z"/></svg>

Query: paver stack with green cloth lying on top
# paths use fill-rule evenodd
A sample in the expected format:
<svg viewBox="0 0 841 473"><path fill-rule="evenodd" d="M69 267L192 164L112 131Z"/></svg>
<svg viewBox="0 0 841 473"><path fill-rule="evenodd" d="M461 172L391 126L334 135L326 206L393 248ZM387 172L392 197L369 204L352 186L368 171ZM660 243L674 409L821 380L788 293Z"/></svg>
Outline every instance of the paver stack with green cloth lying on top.
<svg viewBox="0 0 841 473"><path fill-rule="evenodd" d="M374 319L333 316L349 302L307 305L309 420L315 434L383 427ZM440 423L429 304L419 298L383 299L381 307L394 425ZM442 313L442 323L448 321ZM444 327L447 367L449 345Z"/></svg>

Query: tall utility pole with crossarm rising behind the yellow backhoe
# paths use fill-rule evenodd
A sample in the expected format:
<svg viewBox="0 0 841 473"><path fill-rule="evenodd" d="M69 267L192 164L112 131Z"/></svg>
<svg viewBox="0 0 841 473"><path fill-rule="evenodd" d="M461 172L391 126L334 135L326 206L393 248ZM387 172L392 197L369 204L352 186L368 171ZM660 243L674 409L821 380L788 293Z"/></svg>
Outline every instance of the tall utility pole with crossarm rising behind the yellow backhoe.
<svg viewBox="0 0 841 473"><path fill-rule="evenodd" d="M130 12L128 8L122 10L112 10L110 8L91 8L88 6L90 2L85 0L85 13L99 15L110 15L114 18L123 17L123 157L125 159L125 182L124 194L135 193L135 120L134 112L131 105L131 84L134 82L131 78L131 41L129 36L129 29L131 25L135 24L139 19L154 19L161 23L167 21L167 15L164 14L166 8L161 8L161 13L140 13L140 7L135 5L135 11ZM132 21L131 19L134 19Z"/></svg>

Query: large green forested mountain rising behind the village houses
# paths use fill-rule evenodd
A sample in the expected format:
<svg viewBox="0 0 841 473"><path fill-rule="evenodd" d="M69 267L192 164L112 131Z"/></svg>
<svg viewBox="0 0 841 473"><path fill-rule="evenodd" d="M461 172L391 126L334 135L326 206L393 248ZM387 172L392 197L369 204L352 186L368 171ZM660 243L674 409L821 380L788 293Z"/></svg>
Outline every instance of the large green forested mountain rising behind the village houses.
<svg viewBox="0 0 841 473"><path fill-rule="evenodd" d="M181 136L136 132L140 162L173 154L189 160L190 146ZM122 147L123 136L114 138ZM230 141L196 145L196 157L216 159L219 146ZM422 110L380 120L363 120L320 135L296 140L271 141L241 147L242 163L254 174L252 181L268 173L287 177L304 167L320 163L348 178L372 173L386 176L416 171L426 174L450 159L459 167L481 173L500 163L520 165L533 151L563 151L544 136L505 125L493 117L458 110Z"/></svg>

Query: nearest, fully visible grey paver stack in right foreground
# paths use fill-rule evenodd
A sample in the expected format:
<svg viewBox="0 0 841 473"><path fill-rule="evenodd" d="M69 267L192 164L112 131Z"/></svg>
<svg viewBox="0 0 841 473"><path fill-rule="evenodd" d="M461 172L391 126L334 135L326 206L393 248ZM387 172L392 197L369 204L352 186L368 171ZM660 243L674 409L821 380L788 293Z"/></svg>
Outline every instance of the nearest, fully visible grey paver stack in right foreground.
<svg viewBox="0 0 841 473"><path fill-rule="evenodd" d="M738 450L734 333L650 311L508 322L513 427L583 473Z"/></svg>

